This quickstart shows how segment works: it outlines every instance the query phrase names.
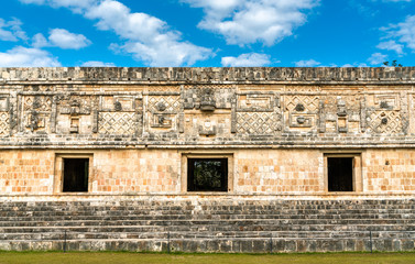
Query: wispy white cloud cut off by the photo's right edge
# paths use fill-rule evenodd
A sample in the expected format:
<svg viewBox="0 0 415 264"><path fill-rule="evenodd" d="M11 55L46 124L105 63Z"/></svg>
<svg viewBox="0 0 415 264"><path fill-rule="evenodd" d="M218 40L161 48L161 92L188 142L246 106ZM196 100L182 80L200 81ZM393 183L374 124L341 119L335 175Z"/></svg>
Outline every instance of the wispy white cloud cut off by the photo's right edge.
<svg viewBox="0 0 415 264"><path fill-rule="evenodd" d="M394 38L415 52L415 15L406 16L404 22L390 24L381 30L387 34L386 38Z"/></svg>

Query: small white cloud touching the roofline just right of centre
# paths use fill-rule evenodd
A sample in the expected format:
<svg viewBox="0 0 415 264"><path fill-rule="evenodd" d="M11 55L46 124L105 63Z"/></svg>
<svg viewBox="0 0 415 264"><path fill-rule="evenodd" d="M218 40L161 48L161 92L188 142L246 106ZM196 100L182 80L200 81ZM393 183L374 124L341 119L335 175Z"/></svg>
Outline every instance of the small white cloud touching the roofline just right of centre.
<svg viewBox="0 0 415 264"><path fill-rule="evenodd" d="M266 54L247 53L238 57L222 57L223 67L260 67L271 64L270 56Z"/></svg>

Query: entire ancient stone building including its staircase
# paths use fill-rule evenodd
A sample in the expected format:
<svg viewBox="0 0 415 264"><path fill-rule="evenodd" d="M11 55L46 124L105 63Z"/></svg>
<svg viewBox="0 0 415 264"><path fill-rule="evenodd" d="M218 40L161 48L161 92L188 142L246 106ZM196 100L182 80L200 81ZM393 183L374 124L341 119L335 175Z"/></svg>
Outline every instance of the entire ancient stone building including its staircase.
<svg viewBox="0 0 415 264"><path fill-rule="evenodd" d="M414 85L412 67L2 68L0 250L414 250Z"/></svg>

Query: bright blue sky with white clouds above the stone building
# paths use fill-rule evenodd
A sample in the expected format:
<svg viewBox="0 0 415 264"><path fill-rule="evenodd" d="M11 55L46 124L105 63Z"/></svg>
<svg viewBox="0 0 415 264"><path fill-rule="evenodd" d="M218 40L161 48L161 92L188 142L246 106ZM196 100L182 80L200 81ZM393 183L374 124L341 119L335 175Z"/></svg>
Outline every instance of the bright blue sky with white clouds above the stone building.
<svg viewBox="0 0 415 264"><path fill-rule="evenodd" d="M0 67L415 65L415 0L7 0Z"/></svg>

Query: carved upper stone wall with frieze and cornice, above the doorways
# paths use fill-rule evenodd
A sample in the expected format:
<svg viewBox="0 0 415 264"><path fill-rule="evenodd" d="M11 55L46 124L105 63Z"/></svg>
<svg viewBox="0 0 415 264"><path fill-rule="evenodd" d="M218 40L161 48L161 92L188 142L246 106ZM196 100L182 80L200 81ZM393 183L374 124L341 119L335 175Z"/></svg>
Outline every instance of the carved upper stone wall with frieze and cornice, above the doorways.
<svg viewBox="0 0 415 264"><path fill-rule="evenodd" d="M412 147L414 68L2 68L3 148Z"/></svg>

